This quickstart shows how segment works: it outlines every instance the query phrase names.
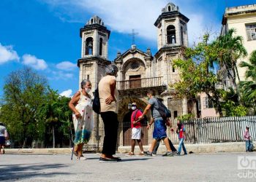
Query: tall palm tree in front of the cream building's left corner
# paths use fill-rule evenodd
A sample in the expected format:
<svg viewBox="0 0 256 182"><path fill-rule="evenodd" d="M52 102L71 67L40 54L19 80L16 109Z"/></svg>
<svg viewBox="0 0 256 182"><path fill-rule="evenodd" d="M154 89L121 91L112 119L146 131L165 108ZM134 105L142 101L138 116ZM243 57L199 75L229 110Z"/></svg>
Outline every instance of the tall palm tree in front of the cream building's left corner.
<svg viewBox="0 0 256 182"><path fill-rule="evenodd" d="M242 36L234 36L235 29L231 28L223 36L219 36L214 45L216 46L219 56L217 61L219 65L224 66L224 71L227 71L227 77L232 80L234 89L238 92L236 77L240 81L237 69L237 60L247 55L246 49L242 43Z"/></svg>

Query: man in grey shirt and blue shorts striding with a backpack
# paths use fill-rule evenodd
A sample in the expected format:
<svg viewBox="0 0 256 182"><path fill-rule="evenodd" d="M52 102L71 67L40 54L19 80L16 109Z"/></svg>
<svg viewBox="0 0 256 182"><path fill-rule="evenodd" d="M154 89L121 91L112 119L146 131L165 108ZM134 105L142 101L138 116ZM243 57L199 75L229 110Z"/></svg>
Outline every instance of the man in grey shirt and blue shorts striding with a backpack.
<svg viewBox="0 0 256 182"><path fill-rule="evenodd" d="M170 150L170 144L166 135L166 124L165 119L162 118L161 114L159 113L158 109L160 109L160 103L157 98L154 97L154 92L152 90L148 90L147 92L148 97L148 105L143 111L143 114L139 116L140 118L143 118L147 114L149 110L151 110L151 115L153 119L151 119L151 122L148 123L147 129L151 126L151 124L154 123L154 131L153 131L153 141L151 144L151 148L146 152L147 156L152 156L152 152L154 150L154 146L156 146L157 141L163 140L167 149L167 152L163 156L173 156L172 151Z"/></svg>

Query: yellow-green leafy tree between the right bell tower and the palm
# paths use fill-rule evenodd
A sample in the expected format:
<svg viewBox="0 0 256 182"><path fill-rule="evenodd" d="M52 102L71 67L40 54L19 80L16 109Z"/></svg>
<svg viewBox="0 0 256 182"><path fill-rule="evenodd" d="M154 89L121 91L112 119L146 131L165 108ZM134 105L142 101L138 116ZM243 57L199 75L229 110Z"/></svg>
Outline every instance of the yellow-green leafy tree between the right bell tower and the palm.
<svg viewBox="0 0 256 182"><path fill-rule="evenodd" d="M208 43L209 35L206 34L197 46L185 48L184 59L173 61L173 66L178 68L181 80L170 85L178 90L178 96L195 98L197 94L206 92L208 98L213 100L219 112L222 112L219 98L222 90L217 89L219 80L214 71L218 49L214 44Z"/></svg>

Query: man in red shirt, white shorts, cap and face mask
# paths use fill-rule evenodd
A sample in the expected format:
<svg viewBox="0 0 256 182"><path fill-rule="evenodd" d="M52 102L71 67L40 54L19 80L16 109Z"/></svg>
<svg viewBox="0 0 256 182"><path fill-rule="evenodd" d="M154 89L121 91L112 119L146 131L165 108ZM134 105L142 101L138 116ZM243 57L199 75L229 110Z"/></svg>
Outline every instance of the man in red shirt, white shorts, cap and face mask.
<svg viewBox="0 0 256 182"><path fill-rule="evenodd" d="M143 118L139 119L139 116L142 115L140 109L137 108L136 103L132 103L132 116L131 116L131 127L132 127L132 150L129 152L129 155L134 155L135 150L135 141L138 142L140 147L140 155L144 155L143 145L142 145L142 132L141 132L141 124L140 121Z"/></svg>

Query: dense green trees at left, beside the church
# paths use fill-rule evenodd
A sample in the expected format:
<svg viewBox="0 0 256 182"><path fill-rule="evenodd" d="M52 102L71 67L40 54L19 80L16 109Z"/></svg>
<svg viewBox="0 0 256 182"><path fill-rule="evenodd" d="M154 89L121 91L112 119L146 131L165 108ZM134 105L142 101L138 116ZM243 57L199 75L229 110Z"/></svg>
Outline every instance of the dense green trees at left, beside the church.
<svg viewBox="0 0 256 182"><path fill-rule="evenodd" d="M50 89L45 77L31 68L22 68L5 79L0 119L7 125L15 146L31 147L32 141L44 141L51 146L55 138L52 135L61 144L70 138L69 100Z"/></svg>

